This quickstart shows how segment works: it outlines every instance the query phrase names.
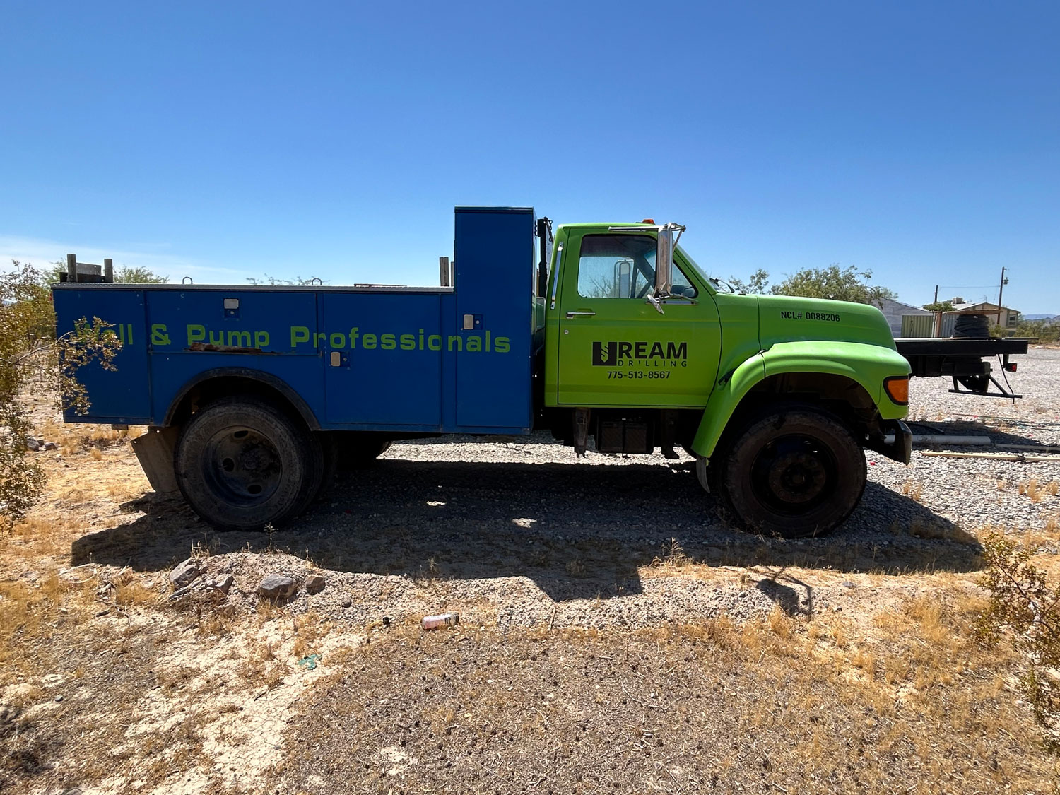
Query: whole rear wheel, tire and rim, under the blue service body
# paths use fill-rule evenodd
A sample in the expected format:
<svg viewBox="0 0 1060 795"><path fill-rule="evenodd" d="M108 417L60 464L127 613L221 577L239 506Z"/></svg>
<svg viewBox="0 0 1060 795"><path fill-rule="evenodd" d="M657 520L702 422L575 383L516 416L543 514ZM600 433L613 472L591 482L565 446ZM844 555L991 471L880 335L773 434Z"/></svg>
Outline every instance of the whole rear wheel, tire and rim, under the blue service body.
<svg viewBox="0 0 1060 795"><path fill-rule="evenodd" d="M248 396L225 398L195 413L174 452L180 493L217 530L283 525L316 496L323 463L316 435Z"/></svg>

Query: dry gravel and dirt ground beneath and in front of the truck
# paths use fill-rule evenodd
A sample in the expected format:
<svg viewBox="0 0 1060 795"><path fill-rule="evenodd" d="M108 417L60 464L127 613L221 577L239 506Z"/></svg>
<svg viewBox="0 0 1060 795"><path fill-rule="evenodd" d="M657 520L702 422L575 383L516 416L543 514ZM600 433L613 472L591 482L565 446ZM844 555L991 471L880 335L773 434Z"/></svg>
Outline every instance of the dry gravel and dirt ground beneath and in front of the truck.
<svg viewBox="0 0 1060 795"><path fill-rule="evenodd" d="M1015 405L924 379L913 416L1060 444L1060 351L1020 364ZM0 765L26 792L264 791L266 768L269 791L314 793L1056 789L1018 672L959 632L983 526L1060 551L1060 497L1021 493L1055 463L869 454L846 526L785 541L720 520L688 457L425 441L267 534L145 493L113 435L69 448L40 454L49 496L0 560L3 610L22 605L7 637L31 633L11 644L24 703L0 704ZM227 596L166 599L190 552L232 575ZM281 610L259 601L266 573L300 584ZM417 626L442 611L460 625Z"/></svg>

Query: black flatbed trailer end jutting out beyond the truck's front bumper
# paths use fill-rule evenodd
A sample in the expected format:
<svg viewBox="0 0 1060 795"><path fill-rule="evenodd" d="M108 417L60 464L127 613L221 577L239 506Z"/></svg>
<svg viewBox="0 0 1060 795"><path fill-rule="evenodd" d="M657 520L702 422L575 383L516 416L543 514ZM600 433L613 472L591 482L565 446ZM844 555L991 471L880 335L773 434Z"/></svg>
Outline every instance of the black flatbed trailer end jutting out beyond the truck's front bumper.
<svg viewBox="0 0 1060 795"><path fill-rule="evenodd" d="M1015 363L1009 361L1009 356L1025 354L1028 339L999 338L965 339L965 338L899 338L895 340L898 352L909 363L912 376L917 378L935 378L949 376L953 378L956 394L976 394L986 398L1022 398L1004 385L993 373L992 363L988 358L996 357L1002 373L1014 373ZM990 385L996 391L990 390ZM961 388L964 387L964 388Z"/></svg>

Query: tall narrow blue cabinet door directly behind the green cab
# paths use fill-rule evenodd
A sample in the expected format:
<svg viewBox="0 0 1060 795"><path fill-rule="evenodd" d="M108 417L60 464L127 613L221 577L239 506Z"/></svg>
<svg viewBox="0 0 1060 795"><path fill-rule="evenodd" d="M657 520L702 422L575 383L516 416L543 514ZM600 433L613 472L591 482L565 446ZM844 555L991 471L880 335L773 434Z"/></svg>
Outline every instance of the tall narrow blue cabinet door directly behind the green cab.
<svg viewBox="0 0 1060 795"><path fill-rule="evenodd" d="M534 308L533 210L456 211L458 425L529 430ZM470 316L472 330L464 330Z"/></svg>

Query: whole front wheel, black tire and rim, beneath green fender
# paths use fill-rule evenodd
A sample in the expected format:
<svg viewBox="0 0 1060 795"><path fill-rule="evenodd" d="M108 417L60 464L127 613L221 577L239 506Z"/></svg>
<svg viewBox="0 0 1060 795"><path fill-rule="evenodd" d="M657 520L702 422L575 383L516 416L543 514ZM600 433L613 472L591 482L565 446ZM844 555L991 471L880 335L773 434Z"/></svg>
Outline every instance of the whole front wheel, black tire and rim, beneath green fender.
<svg viewBox="0 0 1060 795"><path fill-rule="evenodd" d="M865 454L850 429L823 409L774 407L729 439L708 472L723 508L752 532L826 535L865 491Z"/></svg>

